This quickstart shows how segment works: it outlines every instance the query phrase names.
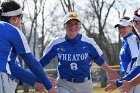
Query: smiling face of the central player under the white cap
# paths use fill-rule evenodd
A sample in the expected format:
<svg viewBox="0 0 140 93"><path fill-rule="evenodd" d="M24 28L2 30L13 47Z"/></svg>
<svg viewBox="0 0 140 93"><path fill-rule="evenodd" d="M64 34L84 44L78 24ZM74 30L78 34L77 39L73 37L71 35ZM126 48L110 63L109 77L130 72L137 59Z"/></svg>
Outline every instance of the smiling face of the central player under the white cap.
<svg viewBox="0 0 140 93"><path fill-rule="evenodd" d="M70 39L73 39L77 36L80 31L81 23L78 20L72 19L69 20L65 25L66 34Z"/></svg>

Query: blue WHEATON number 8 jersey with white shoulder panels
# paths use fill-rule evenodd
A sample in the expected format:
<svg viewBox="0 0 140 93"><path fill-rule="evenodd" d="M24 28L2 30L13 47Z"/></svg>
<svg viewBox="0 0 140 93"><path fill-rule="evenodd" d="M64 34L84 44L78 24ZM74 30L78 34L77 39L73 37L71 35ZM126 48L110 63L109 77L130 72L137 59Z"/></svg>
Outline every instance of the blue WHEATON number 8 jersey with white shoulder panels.
<svg viewBox="0 0 140 93"><path fill-rule="evenodd" d="M78 34L74 39L65 36L53 40L40 62L44 67L56 56L60 77L84 78L90 75L91 60L100 66L105 62L101 55L101 49L92 38Z"/></svg>

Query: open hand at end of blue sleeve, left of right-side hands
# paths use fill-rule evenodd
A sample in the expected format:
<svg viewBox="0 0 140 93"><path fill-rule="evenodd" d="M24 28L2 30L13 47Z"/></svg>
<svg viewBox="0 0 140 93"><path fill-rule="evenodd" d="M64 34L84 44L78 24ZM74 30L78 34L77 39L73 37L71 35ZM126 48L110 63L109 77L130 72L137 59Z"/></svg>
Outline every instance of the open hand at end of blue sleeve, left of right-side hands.
<svg viewBox="0 0 140 93"><path fill-rule="evenodd" d="M112 92L113 90L117 89L116 81L110 80L109 84L105 87L105 92Z"/></svg>

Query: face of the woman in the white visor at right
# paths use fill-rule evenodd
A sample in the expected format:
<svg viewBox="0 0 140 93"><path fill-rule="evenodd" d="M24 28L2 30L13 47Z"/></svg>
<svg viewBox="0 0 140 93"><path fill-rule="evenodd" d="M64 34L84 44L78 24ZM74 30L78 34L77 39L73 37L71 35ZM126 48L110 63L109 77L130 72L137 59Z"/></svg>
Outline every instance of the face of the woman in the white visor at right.
<svg viewBox="0 0 140 93"><path fill-rule="evenodd" d="M118 26L118 31L121 34L122 37L127 36L129 33L132 32L132 27L131 26Z"/></svg>

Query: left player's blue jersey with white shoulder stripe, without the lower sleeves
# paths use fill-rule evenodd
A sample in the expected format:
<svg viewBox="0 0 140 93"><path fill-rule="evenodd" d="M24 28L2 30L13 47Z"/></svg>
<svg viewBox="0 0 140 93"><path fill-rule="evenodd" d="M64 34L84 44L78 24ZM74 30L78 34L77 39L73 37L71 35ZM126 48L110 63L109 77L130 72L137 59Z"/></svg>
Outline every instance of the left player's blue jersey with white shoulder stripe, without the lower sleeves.
<svg viewBox="0 0 140 93"><path fill-rule="evenodd" d="M30 48L23 33L3 21L0 21L0 42L0 71L10 74L8 61L15 60L17 54L29 53Z"/></svg>

